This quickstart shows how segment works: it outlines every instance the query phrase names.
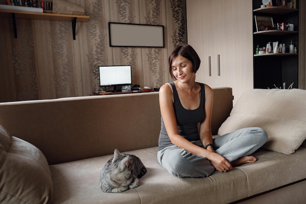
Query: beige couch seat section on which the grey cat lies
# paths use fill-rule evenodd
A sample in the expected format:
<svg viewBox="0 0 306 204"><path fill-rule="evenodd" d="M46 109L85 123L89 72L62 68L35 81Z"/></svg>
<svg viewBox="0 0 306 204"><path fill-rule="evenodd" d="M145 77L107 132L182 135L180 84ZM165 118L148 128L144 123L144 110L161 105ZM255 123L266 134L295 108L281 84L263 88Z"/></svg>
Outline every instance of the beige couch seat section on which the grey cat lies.
<svg viewBox="0 0 306 204"><path fill-rule="evenodd" d="M142 160L147 173L139 179L137 188L122 193L105 193L99 186L101 170L112 155L50 165L54 183L52 203L227 204L247 196L246 176L240 169L207 178L181 179L157 162L157 149L128 152Z"/></svg>

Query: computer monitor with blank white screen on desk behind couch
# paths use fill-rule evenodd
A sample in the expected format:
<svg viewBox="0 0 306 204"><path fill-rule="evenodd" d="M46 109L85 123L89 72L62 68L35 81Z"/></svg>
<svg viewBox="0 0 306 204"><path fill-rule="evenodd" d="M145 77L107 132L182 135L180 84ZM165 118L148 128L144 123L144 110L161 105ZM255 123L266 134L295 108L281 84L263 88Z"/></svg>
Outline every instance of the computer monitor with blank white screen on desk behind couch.
<svg viewBox="0 0 306 204"><path fill-rule="evenodd" d="M100 86L131 85L131 65L99 66Z"/></svg>

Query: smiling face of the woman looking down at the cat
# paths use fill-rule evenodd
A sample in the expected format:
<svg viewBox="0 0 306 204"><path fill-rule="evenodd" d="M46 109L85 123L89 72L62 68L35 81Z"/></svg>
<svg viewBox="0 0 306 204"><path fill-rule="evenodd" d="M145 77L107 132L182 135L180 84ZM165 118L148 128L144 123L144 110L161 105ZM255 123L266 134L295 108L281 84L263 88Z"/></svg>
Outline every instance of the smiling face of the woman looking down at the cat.
<svg viewBox="0 0 306 204"><path fill-rule="evenodd" d="M181 55L178 55L172 61L172 73L180 82L186 82L195 75L192 62Z"/></svg>

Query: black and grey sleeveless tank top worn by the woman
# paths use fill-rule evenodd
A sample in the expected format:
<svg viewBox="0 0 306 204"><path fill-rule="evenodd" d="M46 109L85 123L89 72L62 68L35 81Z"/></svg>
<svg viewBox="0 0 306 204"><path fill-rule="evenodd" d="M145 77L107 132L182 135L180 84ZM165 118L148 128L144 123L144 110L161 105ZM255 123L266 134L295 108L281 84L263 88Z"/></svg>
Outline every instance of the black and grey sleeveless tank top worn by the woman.
<svg viewBox="0 0 306 204"><path fill-rule="evenodd" d="M169 83L172 86L174 102L173 107L175 110L175 117L177 123L177 129L180 136L185 137L189 141L199 140L199 133L197 129L197 124L202 122L204 119L204 104L205 104L205 89L204 84L198 83L201 87L201 101L200 105L195 110L186 110L179 98L175 88L174 82ZM161 117L161 129L158 139L158 151L164 149L165 147L171 146L171 142L164 124L163 117Z"/></svg>

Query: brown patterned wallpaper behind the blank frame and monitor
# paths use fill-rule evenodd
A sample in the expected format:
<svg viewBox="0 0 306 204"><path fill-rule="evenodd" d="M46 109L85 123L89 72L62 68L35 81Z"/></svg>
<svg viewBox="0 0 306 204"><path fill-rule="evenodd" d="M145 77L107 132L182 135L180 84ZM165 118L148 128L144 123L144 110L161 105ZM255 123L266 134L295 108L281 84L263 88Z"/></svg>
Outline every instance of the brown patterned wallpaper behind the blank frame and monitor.
<svg viewBox="0 0 306 204"><path fill-rule="evenodd" d="M185 0L67 0L87 23L0 18L0 102L87 96L98 91L100 65L131 65L132 84L171 81L168 57L187 43ZM6 4L6 0L0 0ZM165 47L110 47L109 22L165 26Z"/></svg>

